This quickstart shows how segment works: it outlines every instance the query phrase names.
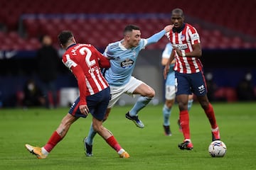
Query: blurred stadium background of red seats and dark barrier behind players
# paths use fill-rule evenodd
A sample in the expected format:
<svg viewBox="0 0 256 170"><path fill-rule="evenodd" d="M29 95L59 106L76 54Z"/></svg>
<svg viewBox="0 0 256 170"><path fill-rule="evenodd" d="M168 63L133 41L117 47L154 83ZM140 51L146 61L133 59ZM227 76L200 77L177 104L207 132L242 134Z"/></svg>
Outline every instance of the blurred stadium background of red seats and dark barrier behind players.
<svg viewBox="0 0 256 170"><path fill-rule="evenodd" d="M255 0L0 0L0 6L0 107L21 106L27 79L40 84L35 55L41 35L53 38L60 56L60 30L72 30L78 42L91 43L102 52L109 42L122 38L127 24L139 26L142 38L158 32L169 24L173 8L182 8L186 23L195 26L201 35L205 73L217 87L211 100L238 101L236 87L248 72L256 94ZM135 77L156 90L155 103L164 100L161 52L166 42L162 38L146 47L134 71ZM77 86L64 66L56 85L58 91ZM59 101L62 98L59 95ZM124 96L119 104L129 102L131 99Z"/></svg>

